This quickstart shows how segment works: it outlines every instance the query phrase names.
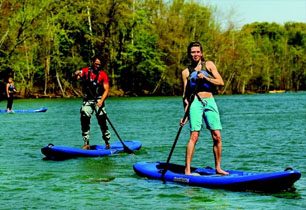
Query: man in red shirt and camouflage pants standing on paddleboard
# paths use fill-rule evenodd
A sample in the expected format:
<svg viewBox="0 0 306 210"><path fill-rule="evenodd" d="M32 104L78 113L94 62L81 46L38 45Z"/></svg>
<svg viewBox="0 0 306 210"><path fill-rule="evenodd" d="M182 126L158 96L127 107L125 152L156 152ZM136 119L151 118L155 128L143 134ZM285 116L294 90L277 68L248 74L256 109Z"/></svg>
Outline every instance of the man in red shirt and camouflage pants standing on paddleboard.
<svg viewBox="0 0 306 210"><path fill-rule="evenodd" d="M98 56L93 57L92 66L76 71L75 75L77 75L77 79L82 79L83 81L84 98L80 111L82 137L84 140L82 149L90 149L90 118L94 113L96 114L106 149L110 149L109 141L111 134L106 122L104 104L109 92L109 82L106 72L102 70L102 59Z"/></svg>

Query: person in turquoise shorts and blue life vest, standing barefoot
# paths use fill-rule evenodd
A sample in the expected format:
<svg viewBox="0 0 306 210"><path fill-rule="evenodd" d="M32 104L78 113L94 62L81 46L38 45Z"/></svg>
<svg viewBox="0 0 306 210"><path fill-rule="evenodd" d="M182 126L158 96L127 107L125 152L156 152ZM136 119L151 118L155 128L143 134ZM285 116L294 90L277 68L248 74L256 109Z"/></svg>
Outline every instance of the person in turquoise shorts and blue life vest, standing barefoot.
<svg viewBox="0 0 306 210"><path fill-rule="evenodd" d="M221 169L222 125L218 107L213 96L216 86L224 85L224 82L215 64L212 61L205 61L201 43L191 42L187 48L187 54L191 59L191 65L182 71L185 110L190 105L190 139L186 148L185 174L191 174L191 160L204 120L206 128L210 130L213 139L216 173L227 175L228 173ZM191 99L190 95L195 95L194 99ZM185 122L181 119L181 125L187 121L188 118Z"/></svg>

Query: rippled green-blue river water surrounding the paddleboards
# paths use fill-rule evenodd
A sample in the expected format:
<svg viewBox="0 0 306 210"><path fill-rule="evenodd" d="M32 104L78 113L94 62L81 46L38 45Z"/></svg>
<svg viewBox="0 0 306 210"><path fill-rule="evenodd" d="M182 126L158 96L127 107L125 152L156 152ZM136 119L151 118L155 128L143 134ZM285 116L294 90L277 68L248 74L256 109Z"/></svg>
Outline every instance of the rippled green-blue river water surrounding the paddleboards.
<svg viewBox="0 0 306 210"><path fill-rule="evenodd" d="M0 114L0 209L306 209L306 92L216 96L223 124L222 168L302 173L295 191L233 192L148 180L133 164L166 161L184 115L181 97L108 98L106 109L124 140L139 140L135 155L46 161L49 143L81 147L82 99L20 99L14 109L45 113ZM0 102L0 109L6 101ZM112 132L112 140L118 141ZM184 164L184 126L171 158ZM91 144L102 144L97 121ZM200 134L192 166L214 166L212 140Z"/></svg>

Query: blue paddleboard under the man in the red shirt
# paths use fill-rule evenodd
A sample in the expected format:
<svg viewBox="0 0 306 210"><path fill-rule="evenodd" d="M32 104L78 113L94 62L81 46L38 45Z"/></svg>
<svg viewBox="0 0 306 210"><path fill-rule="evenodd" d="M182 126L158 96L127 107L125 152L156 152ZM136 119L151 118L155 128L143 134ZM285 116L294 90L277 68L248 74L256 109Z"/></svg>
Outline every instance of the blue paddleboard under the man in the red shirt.
<svg viewBox="0 0 306 210"><path fill-rule="evenodd" d="M139 150L141 148L141 142L139 141L123 142L130 150ZM121 142L111 143L110 147L110 149L105 149L105 145L92 145L90 146L90 150L84 150L81 148L49 144L48 146L43 147L41 152L46 156L46 159L50 160L65 160L78 157L100 157L124 152Z"/></svg>

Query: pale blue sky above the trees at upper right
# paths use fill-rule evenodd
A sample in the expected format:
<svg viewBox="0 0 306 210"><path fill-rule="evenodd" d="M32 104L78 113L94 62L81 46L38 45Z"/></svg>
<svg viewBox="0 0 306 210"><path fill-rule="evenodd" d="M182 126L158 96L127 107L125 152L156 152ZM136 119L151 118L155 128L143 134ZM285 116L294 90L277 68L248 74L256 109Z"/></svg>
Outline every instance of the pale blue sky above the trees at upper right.
<svg viewBox="0 0 306 210"><path fill-rule="evenodd" d="M306 0L201 0L217 7L217 21L231 20L238 28L253 22L304 22ZM230 18L229 18L230 17Z"/></svg>

